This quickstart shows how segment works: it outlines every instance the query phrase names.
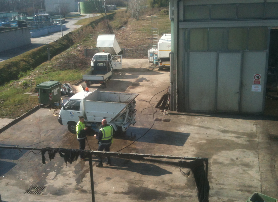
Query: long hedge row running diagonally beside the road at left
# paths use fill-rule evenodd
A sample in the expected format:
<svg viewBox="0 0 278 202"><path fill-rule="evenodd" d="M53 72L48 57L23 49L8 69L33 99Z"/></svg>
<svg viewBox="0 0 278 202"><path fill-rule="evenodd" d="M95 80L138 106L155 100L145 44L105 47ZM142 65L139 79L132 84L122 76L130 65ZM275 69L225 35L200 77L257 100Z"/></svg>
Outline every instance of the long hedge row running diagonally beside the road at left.
<svg viewBox="0 0 278 202"><path fill-rule="evenodd" d="M111 20L115 16L115 13L108 14L108 19ZM0 63L0 85L5 84L11 80L18 79L20 72L26 72L27 70L33 70L38 65L47 61L47 48L50 49L51 58L57 54L65 51L71 45L74 45L76 42L79 42L86 37L88 27L94 28L99 22L104 20L104 17L100 17L93 22L89 23L86 26L82 26L63 37L59 38L56 41L53 41L49 44L43 45L36 49L27 51L19 56L13 57L9 60L5 60Z"/></svg>

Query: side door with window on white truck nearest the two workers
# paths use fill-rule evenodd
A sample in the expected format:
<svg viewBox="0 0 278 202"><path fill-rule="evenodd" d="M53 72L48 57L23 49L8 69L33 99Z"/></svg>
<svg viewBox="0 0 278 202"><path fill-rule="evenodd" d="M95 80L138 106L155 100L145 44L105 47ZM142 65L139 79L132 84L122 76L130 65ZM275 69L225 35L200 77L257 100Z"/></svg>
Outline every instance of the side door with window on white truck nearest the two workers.
<svg viewBox="0 0 278 202"><path fill-rule="evenodd" d="M68 121L79 121L79 116L83 116L81 100L69 100L63 107L61 118L64 123Z"/></svg>

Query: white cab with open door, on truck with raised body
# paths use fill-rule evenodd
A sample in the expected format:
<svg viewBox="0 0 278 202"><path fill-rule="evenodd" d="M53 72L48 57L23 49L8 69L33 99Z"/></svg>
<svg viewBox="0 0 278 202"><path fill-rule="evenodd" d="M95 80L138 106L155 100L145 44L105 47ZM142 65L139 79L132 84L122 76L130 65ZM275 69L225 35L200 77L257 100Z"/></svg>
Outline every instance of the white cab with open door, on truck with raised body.
<svg viewBox="0 0 278 202"><path fill-rule="evenodd" d="M110 61L113 70L120 70L122 69L122 56L112 56L111 53L109 52L99 52L96 53L93 56L93 59L91 61L91 69L94 66L94 61L96 60L106 60L106 61Z"/></svg>

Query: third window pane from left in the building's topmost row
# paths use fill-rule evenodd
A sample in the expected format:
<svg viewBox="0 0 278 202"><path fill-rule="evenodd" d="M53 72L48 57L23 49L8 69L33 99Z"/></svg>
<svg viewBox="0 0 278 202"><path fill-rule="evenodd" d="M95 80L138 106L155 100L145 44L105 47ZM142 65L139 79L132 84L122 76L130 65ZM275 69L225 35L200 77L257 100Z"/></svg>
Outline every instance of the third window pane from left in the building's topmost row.
<svg viewBox="0 0 278 202"><path fill-rule="evenodd" d="M237 7L238 18L263 18L264 4L239 4Z"/></svg>

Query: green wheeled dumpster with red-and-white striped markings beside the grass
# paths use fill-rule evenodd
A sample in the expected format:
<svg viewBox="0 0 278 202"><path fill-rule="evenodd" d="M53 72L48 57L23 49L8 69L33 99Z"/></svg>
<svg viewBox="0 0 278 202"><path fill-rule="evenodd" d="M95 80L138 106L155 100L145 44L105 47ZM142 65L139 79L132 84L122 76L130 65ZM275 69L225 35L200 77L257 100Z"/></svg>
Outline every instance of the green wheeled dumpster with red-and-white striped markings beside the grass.
<svg viewBox="0 0 278 202"><path fill-rule="evenodd" d="M38 102L42 105L49 105L60 101L61 83L59 81L46 81L36 86Z"/></svg>

